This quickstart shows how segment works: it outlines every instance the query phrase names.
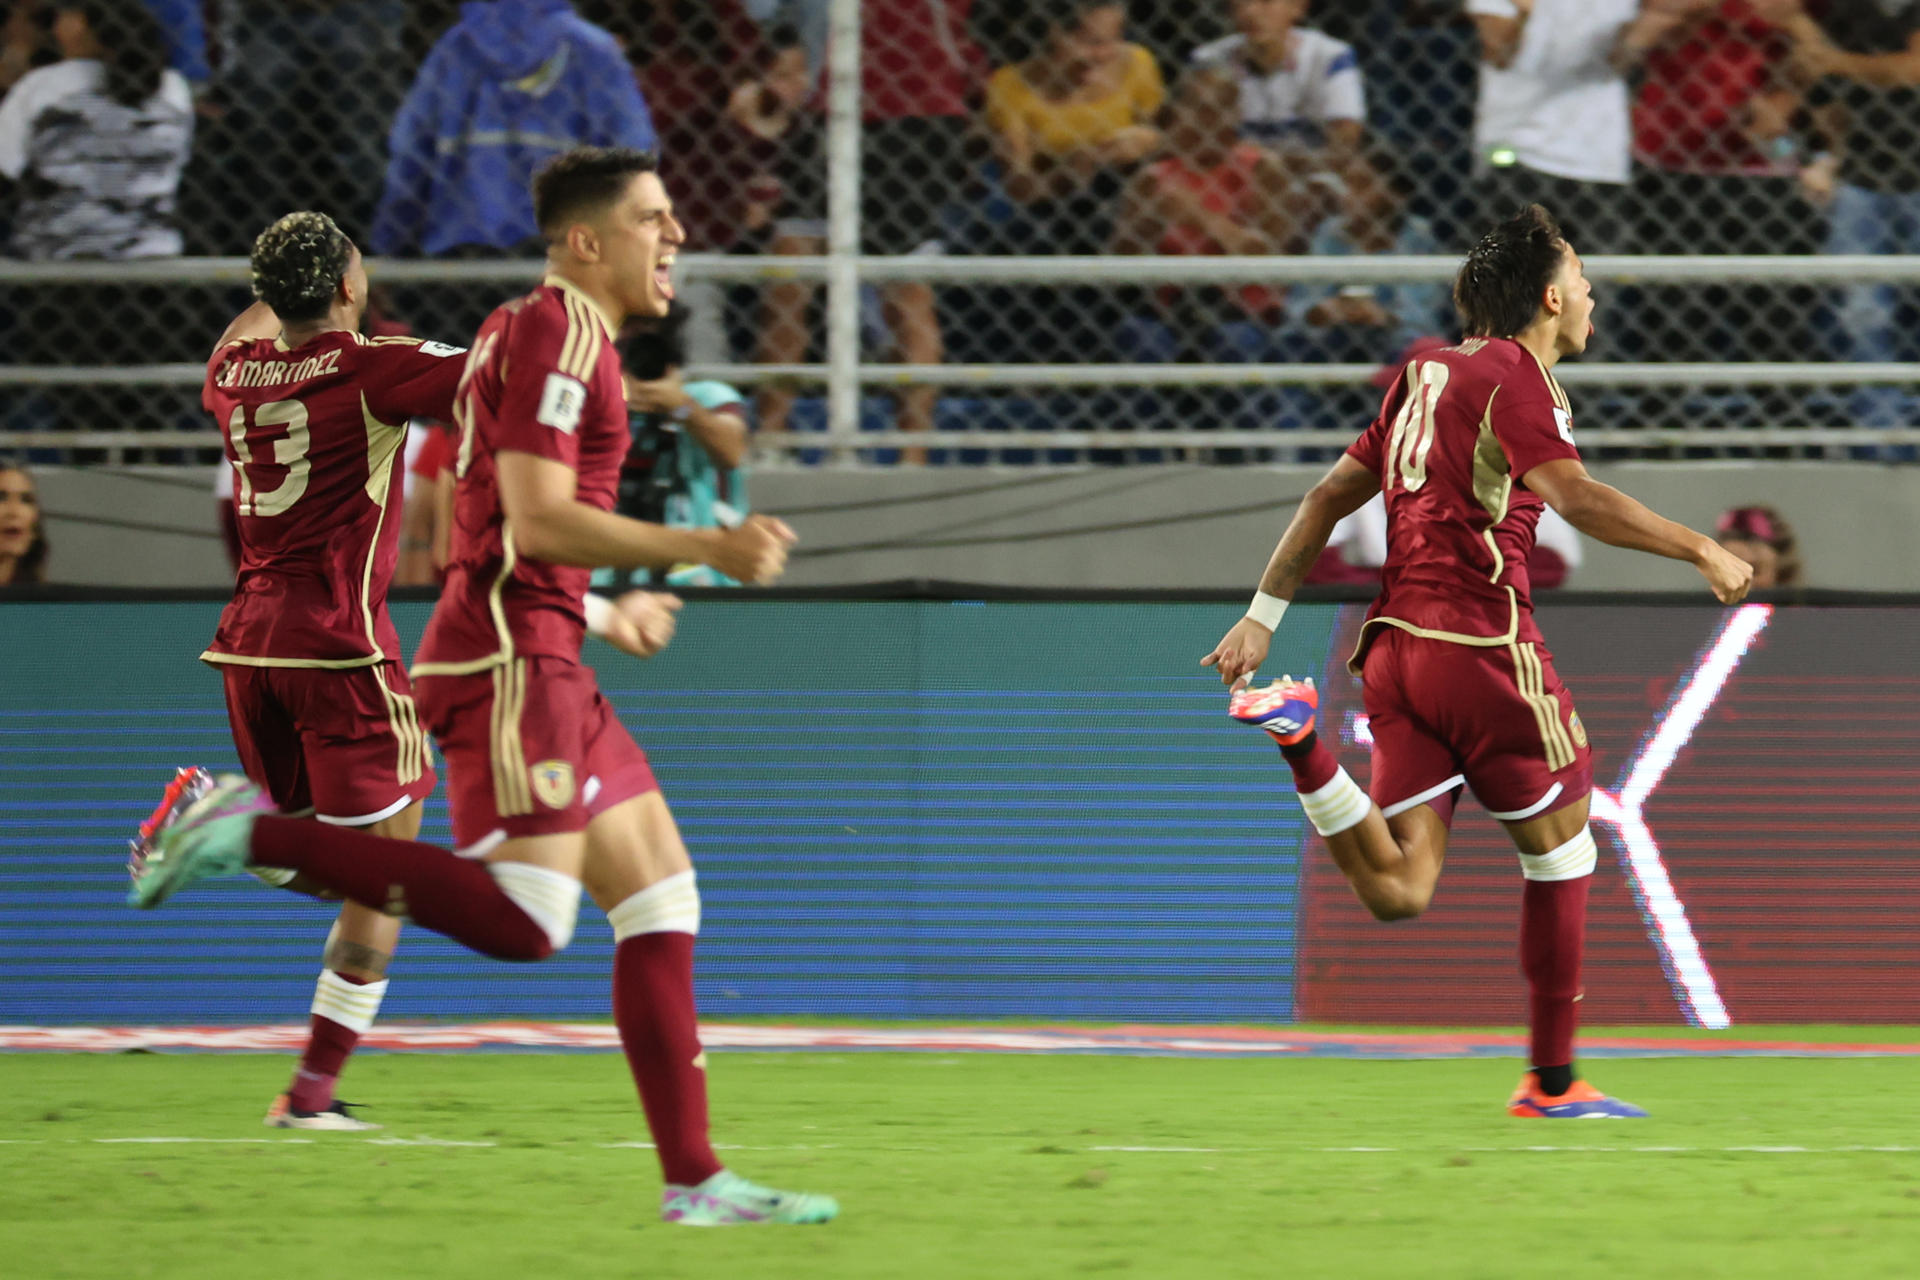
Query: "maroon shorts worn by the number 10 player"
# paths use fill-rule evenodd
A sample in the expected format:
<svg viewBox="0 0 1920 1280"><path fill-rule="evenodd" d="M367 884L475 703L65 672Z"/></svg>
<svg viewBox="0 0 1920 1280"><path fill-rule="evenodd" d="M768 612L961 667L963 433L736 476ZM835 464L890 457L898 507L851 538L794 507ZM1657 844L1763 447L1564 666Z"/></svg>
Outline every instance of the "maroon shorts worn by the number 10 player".
<svg viewBox="0 0 1920 1280"><path fill-rule="evenodd" d="M1457 645L1380 626L1361 685L1373 800L1388 818L1461 783L1501 821L1594 789L1586 727L1542 645Z"/></svg>

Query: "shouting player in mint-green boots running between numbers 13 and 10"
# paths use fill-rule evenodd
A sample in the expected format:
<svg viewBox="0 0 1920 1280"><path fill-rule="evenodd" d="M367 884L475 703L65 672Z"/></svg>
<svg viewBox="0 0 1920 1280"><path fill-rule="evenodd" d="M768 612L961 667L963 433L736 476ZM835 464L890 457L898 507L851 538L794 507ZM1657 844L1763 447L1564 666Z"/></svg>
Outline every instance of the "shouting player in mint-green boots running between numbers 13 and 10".
<svg viewBox="0 0 1920 1280"><path fill-rule="evenodd" d="M420 710L447 760L459 854L290 823L259 789L221 779L169 818L132 902L248 867L282 867L501 960L572 938L586 885L614 931L612 1007L666 1174L660 1217L685 1224L826 1222L828 1196L724 1169L707 1138L707 1055L693 1011L701 900L645 754L580 662L589 626L657 641L622 597L589 620L597 566L708 564L741 581L785 566L793 532L668 530L612 514L628 449L612 336L664 315L685 240L651 155L580 148L534 180L547 280L493 311L467 359L453 562L420 643Z"/></svg>

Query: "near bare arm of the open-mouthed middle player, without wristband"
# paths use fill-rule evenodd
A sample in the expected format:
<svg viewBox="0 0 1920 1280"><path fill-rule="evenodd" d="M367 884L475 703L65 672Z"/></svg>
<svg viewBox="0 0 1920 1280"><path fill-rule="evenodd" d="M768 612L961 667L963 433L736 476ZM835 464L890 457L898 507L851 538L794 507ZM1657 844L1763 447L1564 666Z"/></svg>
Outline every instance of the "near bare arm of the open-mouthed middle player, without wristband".
<svg viewBox="0 0 1920 1280"><path fill-rule="evenodd" d="M739 581L768 583L787 566L797 537L785 522L749 516L733 530L670 530L616 516L576 499L564 462L501 451L499 501L520 555L582 568L672 568L707 564Z"/></svg>

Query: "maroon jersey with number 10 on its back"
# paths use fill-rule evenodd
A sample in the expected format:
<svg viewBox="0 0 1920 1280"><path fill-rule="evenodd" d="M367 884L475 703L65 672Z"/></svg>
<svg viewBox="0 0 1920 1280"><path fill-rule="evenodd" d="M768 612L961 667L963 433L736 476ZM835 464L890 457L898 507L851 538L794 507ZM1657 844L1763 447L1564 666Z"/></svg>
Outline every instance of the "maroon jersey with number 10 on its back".
<svg viewBox="0 0 1920 1280"><path fill-rule="evenodd" d="M1559 382L1511 338L1469 338L1411 361L1348 449L1386 495L1373 624L1463 645L1538 641L1526 557L1540 497L1521 478L1578 459Z"/></svg>

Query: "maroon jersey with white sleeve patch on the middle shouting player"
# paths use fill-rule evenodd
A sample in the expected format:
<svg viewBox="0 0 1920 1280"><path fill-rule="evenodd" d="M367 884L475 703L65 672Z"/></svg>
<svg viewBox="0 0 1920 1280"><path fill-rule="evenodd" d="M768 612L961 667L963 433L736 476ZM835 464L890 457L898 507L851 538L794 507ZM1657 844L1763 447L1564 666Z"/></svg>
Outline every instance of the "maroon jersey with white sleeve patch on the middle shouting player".
<svg viewBox="0 0 1920 1280"><path fill-rule="evenodd" d="M564 462L578 476L574 497L612 510L632 439L612 332L599 305L557 276L480 326L453 407L451 564L415 674L480 672L528 654L580 658L593 570L515 549L495 455Z"/></svg>

